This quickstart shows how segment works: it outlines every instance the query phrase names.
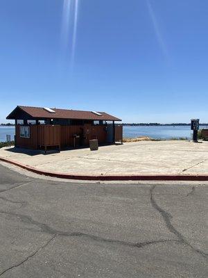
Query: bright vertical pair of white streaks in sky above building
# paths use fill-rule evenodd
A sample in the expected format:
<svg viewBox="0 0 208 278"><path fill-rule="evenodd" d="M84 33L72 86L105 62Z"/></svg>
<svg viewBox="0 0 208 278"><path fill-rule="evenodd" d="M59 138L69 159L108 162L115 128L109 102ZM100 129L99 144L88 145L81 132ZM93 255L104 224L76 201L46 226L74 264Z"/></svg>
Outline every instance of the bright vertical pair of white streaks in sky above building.
<svg viewBox="0 0 208 278"><path fill-rule="evenodd" d="M64 50L70 51L71 67L73 67L76 35L78 24L78 1L79 0L63 0L62 12L62 46Z"/></svg>

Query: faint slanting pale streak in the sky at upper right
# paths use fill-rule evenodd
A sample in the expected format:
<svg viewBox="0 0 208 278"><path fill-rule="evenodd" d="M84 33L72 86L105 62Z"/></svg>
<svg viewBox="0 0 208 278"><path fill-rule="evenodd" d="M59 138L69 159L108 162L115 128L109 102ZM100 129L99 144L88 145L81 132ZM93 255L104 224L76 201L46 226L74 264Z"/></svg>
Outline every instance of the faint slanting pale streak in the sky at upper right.
<svg viewBox="0 0 208 278"><path fill-rule="evenodd" d="M146 3L147 3L147 6L148 6L148 12L150 14L150 19L153 22L153 27L154 27L154 30L155 30L155 35L157 37L157 41L159 43L159 46L161 47L164 55L168 56L168 51L167 51L167 48L166 48L166 44L164 42L164 38L162 37L162 33L159 30L159 24L158 24L157 18L155 16L155 12L153 10L153 6L151 5L149 0L146 0Z"/></svg>

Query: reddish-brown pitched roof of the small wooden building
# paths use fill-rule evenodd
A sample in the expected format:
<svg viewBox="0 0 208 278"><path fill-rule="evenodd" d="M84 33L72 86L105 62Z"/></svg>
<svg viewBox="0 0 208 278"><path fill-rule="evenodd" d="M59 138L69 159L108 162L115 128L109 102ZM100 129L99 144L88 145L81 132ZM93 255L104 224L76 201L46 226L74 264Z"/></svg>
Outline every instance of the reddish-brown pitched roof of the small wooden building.
<svg viewBox="0 0 208 278"><path fill-rule="evenodd" d="M33 118L50 118L50 119L74 119L74 120L106 120L106 121L121 121L121 119L114 117L105 112L98 112L101 115L96 115L92 111L77 111L77 110L69 110L69 109L58 109L51 108L55 113L50 113L46 111L42 107L31 107L31 106L17 106L10 115L8 115L7 119L15 120L16 111L21 110L26 112ZM19 119L20 120L20 119Z"/></svg>

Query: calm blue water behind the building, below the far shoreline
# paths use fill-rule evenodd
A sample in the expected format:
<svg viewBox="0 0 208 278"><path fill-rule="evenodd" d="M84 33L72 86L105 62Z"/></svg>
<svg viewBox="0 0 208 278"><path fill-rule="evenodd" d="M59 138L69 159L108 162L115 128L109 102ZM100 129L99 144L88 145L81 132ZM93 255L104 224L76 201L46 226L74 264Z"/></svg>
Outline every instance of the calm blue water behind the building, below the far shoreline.
<svg viewBox="0 0 208 278"><path fill-rule="evenodd" d="M208 126L200 126L200 129L208 129ZM6 141L6 134L10 134L11 140L14 140L15 126L0 126L0 142ZM123 126L123 138L148 136L155 139L191 139L191 134L190 126Z"/></svg>

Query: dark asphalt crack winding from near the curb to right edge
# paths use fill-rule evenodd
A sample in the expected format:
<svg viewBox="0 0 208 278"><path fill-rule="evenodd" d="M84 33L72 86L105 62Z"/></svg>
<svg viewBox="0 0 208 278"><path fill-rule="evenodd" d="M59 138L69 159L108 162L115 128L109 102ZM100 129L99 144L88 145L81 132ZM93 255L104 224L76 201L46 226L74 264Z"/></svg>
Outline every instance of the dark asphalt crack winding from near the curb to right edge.
<svg viewBox="0 0 208 278"><path fill-rule="evenodd" d="M154 199L154 196L153 196L153 192L156 188L156 185L155 186L152 186L150 188L150 202L153 206L153 208L155 208L156 211L159 212L159 214L162 216L165 224L166 224L166 227L168 228L168 230L174 234L175 236L177 236L177 241L179 243L182 243L184 245L187 245L189 247L191 247L191 250L193 250L194 252L197 252L198 254L202 255L203 257L207 258L207 255L205 252L203 252L202 250L199 250L197 249L196 247L193 247L193 245L191 245L188 240L186 238L184 238L184 236L182 236L182 234L180 234L179 231L177 231L177 229L175 229L175 227L173 226L173 224L171 223L171 219L173 218L173 216L171 215L171 213L168 213L167 211L164 211L163 208L161 208L157 202L155 201Z"/></svg>

